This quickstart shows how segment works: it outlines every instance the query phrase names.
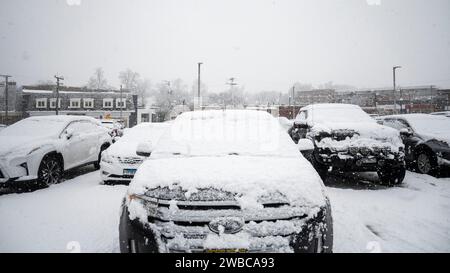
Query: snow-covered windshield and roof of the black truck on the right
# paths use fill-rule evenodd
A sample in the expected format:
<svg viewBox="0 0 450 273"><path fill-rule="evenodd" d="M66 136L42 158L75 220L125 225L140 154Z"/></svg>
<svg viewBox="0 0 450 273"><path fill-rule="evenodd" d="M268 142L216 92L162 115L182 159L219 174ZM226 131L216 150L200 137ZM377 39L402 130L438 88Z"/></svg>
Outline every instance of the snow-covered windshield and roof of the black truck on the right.
<svg viewBox="0 0 450 273"><path fill-rule="evenodd" d="M308 120L314 123L375 123L366 112L354 105L313 106L308 110Z"/></svg>

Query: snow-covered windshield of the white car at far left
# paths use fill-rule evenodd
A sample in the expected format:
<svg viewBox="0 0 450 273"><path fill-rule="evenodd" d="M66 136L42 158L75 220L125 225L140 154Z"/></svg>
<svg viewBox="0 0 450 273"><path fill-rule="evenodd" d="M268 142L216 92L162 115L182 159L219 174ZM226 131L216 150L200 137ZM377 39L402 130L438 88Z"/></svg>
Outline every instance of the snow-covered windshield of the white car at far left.
<svg viewBox="0 0 450 273"><path fill-rule="evenodd" d="M24 119L0 131L0 136L58 136L64 129L66 121Z"/></svg>

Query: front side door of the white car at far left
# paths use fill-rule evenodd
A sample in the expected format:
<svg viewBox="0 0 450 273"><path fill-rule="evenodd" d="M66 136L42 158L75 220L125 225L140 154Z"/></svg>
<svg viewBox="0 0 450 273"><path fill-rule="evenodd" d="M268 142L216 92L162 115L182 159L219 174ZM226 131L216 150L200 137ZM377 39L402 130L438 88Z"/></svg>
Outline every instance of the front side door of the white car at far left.
<svg viewBox="0 0 450 273"><path fill-rule="evenodd" d="M65 134L62 154L64 156L65 169L71 169L86 162L89 154L89 145L86 145L87 128L85 121L73 121L67 127L66 131L71 132L67 137Z"/></svg>

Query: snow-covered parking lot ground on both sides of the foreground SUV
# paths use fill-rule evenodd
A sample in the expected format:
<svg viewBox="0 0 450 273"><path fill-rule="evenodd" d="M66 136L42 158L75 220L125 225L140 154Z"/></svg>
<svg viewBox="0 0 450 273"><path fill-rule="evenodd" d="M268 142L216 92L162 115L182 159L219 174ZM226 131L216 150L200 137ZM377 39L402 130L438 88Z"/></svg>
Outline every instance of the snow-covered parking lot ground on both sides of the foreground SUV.
<svg viewBox="0 0 450 273"><path fill-rule="evenodd" d="M0 195L0 252L118 252L126 187L81 172L47 189ZM335 252L450 252L450 178L408 172L400 187L363 182L373 179L328 181Z"/></svg>

